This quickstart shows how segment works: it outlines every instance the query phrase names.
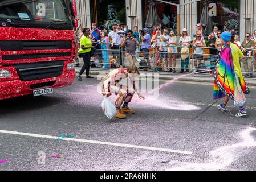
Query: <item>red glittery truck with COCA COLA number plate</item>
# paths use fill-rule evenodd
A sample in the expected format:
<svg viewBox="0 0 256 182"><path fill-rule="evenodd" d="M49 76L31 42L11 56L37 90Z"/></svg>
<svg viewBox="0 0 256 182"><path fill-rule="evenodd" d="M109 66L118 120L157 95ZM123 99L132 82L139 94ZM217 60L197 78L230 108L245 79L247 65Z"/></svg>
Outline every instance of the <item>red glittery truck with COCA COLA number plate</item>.
<svg viewBox="0 0 256 182"><path fill-rule="evenodd" d="M75 0L0 1L0 100L74 82L75 16Z"/></svg>

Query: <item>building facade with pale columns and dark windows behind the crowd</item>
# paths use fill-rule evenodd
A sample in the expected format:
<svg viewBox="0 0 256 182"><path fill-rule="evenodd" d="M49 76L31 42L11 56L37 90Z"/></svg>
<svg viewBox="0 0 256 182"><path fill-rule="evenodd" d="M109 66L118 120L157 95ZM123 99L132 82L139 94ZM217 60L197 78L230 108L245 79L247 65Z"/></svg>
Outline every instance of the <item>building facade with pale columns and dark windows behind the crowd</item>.
<svg viewBox="0 0 256 182"><path fill-rule="evenodd" d="M152 0L76 0L78 16L83 27L111 29L113 23L145 26ZM202 16L210 16L211 28L234 27L241 40L246 32L256 30L256 0L153 0L163 27L169 27L181 33L187 28L190 36L195 36L196 24ZM255 17L255 18L254 18ZM203 24L203 23L202 23ZM203 24L206 28L206 23Z"/></svg>

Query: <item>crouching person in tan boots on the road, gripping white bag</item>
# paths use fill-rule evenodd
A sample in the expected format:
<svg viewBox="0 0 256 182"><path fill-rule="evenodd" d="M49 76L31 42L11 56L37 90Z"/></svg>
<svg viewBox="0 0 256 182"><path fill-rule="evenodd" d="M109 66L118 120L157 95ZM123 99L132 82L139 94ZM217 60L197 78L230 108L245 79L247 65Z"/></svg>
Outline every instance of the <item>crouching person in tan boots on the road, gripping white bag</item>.
<svg viewBox="0 0 256 182"><path fill-rule="evenodd" d="M103 96L111 96L112 93L118 95L115 105L117 113L116 118L126 118L127 114L135 114L135 110L129 109L128 104L131 102L133 95L137 92L140 99L145 100L144 96L139 92L135 76L139 75L139 71L135 65L127 68L114 69L102 78L102 94ZM121 108L121 106L123 107Z"/></svg>

